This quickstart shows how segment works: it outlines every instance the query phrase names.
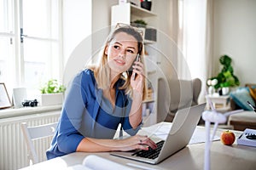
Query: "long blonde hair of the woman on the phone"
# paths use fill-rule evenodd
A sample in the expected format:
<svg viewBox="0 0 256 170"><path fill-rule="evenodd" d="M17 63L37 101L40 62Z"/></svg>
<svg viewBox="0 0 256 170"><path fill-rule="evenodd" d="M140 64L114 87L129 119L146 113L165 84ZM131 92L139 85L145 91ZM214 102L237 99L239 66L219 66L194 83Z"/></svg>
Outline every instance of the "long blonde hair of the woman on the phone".
<svg viewBox="0 0 256 170"><path fill-rule="evenodd" d="M108 65L108 56L105 54L105 50L108 47L109 42L113 40L113 37L119 32L125 32L132 37L135 37L137 40L137 48L138 48L138 54L141 56L141 62L144 64L144 48L143 48L143 36L140 32L138 32L134 27L132 26L122 26L119 28L116 28L113 32L111 32L105 42L104 48L102 49L101 53L99 54L98 63L96 65L90 65L87 66L90 70L94 71L94 76L96 78L97 82L97 88L107 89L110 86L110 68ZM122 78L125 83L122 87L119 87L119 89L125 89L125 94L129 94L132 96L132 88L131 88L131 74L128 73L128 71L125 71L121 73L120 78ZM143 89L143 99L147 96L146 91L146 81Z"/></svg>

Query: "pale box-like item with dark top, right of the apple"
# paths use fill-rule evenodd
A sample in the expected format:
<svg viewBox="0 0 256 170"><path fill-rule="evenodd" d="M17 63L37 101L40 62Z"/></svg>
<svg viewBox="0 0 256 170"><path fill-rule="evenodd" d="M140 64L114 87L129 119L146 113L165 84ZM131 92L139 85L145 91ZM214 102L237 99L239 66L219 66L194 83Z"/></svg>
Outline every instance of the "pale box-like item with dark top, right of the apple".
<svg viewBox="0 0 256 170"><path fill-rule="evenodd" d="M251 136L252 138L250 139ZM238 137L237 144L256 147L256 129L246 128Z"/></svg>

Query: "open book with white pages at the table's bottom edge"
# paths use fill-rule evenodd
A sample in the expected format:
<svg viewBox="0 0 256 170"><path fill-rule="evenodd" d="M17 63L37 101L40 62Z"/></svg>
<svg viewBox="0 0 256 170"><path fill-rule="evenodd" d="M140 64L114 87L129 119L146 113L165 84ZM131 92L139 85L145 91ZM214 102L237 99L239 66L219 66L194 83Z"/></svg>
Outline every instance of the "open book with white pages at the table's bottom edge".
<svg viewBox="0 0 256 170"><path fill-rule="evenodd" d="M117 162L107 160L100 156L89 155L84 158L83 164L68 167L68 170L133 170L131 167L126 167Z"/></svg>

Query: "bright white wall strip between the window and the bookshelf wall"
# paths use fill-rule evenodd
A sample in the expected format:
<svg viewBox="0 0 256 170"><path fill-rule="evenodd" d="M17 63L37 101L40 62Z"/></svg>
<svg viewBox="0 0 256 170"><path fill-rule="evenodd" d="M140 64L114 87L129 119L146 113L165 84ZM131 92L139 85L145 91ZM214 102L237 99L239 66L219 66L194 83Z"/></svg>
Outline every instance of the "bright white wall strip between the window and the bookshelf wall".
<svg viewBox="0 0 256 170"><path fill-rule="evenodd" d="M63 0L64 72L62 82L66 87L90 59L91 1Z"/></svg>

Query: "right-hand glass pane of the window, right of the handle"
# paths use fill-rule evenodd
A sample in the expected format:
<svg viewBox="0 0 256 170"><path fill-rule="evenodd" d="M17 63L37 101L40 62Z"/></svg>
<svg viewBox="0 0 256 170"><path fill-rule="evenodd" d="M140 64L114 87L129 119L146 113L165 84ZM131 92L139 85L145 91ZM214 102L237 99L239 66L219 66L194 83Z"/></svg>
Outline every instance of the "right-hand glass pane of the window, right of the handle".
<svg viewBox="0 0 256 170"><path fill-rule="evenodd" d="M20 29L23 38L24 83L36 88L38 82L60 77L59 10L57 0L23 0ZM22 41L22 40L21 40Z"/></svg>

